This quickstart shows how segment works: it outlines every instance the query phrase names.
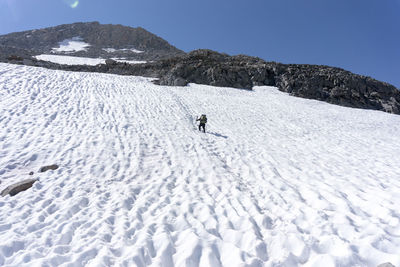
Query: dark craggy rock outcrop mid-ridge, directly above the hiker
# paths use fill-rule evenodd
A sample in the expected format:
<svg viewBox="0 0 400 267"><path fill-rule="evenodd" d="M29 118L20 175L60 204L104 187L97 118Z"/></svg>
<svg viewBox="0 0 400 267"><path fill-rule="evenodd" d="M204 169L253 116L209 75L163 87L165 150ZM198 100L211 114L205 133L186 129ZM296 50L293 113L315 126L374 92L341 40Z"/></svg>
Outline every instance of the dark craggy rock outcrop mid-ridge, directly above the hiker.
<svg viewBox="0 0 400 267"><path fill-rule="evenodd" d="M259 58L196 50L179 59L163 62L170 67L162 73L161 85L178 85L177 81L244 89L254 85L275 85L274 72Z"/></svg>

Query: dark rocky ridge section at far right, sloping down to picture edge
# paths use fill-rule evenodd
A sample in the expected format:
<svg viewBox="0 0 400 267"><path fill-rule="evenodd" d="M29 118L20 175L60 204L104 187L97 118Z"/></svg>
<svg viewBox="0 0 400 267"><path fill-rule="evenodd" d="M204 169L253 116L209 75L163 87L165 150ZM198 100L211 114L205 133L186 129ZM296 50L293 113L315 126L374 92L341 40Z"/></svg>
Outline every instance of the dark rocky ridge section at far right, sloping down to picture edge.
<svg viewBox="0 0 400 267"><path fill-rule="evenodd" d="M288 65L276 86L294 96L400 114L400 91L394 86L339 68Z"/></svg>

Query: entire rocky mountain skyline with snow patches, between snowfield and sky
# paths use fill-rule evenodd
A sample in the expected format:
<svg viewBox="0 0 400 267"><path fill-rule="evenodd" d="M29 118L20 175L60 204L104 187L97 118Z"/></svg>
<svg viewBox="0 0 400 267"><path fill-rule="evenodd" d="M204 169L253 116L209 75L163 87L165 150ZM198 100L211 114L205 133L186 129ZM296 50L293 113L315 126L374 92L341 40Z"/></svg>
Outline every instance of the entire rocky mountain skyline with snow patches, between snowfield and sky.
<svg viewBox="0 0 400 267"><path fill-rule="evenodd" d="M371 77L208 49L186 54L140 27L91 22L10 33L0 36L0 62L146 76L172 86L197 83L250 90L275 86L298 97L400 114L400 90Z"/></svg>

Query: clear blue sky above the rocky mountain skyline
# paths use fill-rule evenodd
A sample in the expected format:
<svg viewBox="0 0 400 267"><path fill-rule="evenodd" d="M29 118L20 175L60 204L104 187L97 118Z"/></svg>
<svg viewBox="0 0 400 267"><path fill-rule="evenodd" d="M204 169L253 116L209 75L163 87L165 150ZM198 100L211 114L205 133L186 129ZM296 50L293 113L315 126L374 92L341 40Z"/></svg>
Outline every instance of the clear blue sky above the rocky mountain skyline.
<svg viewBox="0 0 400 267"><path fill-rule="evenodd" d="M141 26L184 51L341 67L400 88L400 0L0 0L0 34L80 21Z"/></svg>

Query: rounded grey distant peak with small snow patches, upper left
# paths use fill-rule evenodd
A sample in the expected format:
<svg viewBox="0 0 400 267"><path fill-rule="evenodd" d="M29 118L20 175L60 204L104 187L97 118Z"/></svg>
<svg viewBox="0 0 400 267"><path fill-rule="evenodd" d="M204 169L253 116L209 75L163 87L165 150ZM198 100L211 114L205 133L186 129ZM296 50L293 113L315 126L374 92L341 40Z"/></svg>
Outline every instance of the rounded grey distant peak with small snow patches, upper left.
<svg viewBox="0 0 400 267"><path fill-rule="evenodd" d="M184 52L138 27L98 22L64 24L0 36L0 45L28 49L37 54L156 60Z"/></svg>

